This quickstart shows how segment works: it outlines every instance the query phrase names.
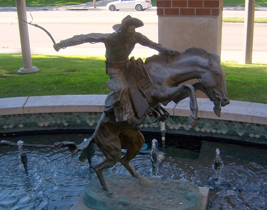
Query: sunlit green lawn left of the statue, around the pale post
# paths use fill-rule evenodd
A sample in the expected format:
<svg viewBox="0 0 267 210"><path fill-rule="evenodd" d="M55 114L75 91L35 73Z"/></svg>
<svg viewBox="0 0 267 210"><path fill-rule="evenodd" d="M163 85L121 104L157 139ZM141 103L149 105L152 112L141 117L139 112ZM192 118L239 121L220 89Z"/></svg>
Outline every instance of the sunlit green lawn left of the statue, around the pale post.
<svg viewBox="0 0 267 210"><path fill-rule="evenodd" d="M104 57L32 55L39 71L21 74L19 54L0 54L0 98L107 94Z"/></svg>

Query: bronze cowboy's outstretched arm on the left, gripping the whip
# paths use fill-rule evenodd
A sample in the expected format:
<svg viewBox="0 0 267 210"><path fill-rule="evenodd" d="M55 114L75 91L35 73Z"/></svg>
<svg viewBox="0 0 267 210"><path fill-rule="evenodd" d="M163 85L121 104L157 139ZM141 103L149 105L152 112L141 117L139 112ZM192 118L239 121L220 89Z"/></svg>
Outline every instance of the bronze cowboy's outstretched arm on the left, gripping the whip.
<svg viewBox="0 0 267 210"><path fill-rule="evenodd" d="M71 38L61 40L59 43L53 45L55 51L59 51L61 48L67 48L70 46L80 45L86 42L96 43L104 42L109 34L92 33L87 35L75 35Z"/></svg>

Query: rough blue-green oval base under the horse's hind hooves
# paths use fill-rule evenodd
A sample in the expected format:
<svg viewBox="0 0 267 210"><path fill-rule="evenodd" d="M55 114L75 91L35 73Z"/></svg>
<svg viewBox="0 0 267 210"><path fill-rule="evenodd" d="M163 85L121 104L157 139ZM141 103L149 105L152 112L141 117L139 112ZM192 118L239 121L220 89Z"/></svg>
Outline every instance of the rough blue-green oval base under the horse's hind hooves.
<svg viewBox="0 0 267 210"><path fill-rule="evenodd" d="M148 187L130 175L105 174L118 198L108 198L97 177L85 188L83 201L94 210L200 210L199 187L186 180L146 177Z"/></svg>

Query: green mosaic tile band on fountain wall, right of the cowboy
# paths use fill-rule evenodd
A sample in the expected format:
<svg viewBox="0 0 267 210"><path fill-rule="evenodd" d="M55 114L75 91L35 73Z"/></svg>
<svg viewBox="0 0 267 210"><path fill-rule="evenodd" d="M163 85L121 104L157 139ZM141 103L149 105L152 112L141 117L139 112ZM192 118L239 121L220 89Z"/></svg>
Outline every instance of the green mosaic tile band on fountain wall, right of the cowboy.
<svg viewBox="0 0 267 210"><path fill-rule="evenodd" d="M197 127L187 117L171 116L165 122L166 133L214 137L250 143L267 144L267 125L199 118ZM144 131L160 131L159 123L145 121Z"/></svg>

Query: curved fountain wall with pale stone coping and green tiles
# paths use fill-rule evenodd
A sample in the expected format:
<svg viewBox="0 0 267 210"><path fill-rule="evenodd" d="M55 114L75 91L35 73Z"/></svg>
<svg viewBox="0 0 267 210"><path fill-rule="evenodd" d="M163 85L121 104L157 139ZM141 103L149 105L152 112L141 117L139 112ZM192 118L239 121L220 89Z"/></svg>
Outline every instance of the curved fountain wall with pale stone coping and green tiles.
<svg viewBox="0 0 267 210"><path fill-rule="evenodd" d="M83 100L81 101L75 99L75 97L81 96L44 97L27 98L26 102L22 103L22 113L19 113L21 111L18 110L18 107L16 107L17 111L1 107L0 134L56 129L95 129L102 113L101 109L105 98L105 96L100 96L97 100L93 100L92 96L86 95L82 96ZM91 102L89 106L88 101ZM179 105L169 104L165 107L171 114L171 117L165 122L167 133L267 144L267 118L265 116L267 115L265 111L267 105L255 104L255 107L252 108L254 110L253 114L251 114L252 105L250 105L250 109L248 105L245 105L245 111L240 111L243 107L242 103L244 105L247 102L233 102L234 105L239 104L236 106L237 108L231 108L230 105L228 105L228 108L227 106L222 107L222 117L220 119L213 114L212 103L207 99L198 99L198 125L193 128L187 121L187 116L190 115L189 102L185 100L184 104L180 103ZM3 104L0 105L3 106ZM7 104L4 106L7 106ZM223 111L224 109L226 110ZM82 111L75 112L74 110ZM209 117L210 115L212 117ZM141 125L141 130L159 132L160 124L150 123L146 120Z"/></svg>

